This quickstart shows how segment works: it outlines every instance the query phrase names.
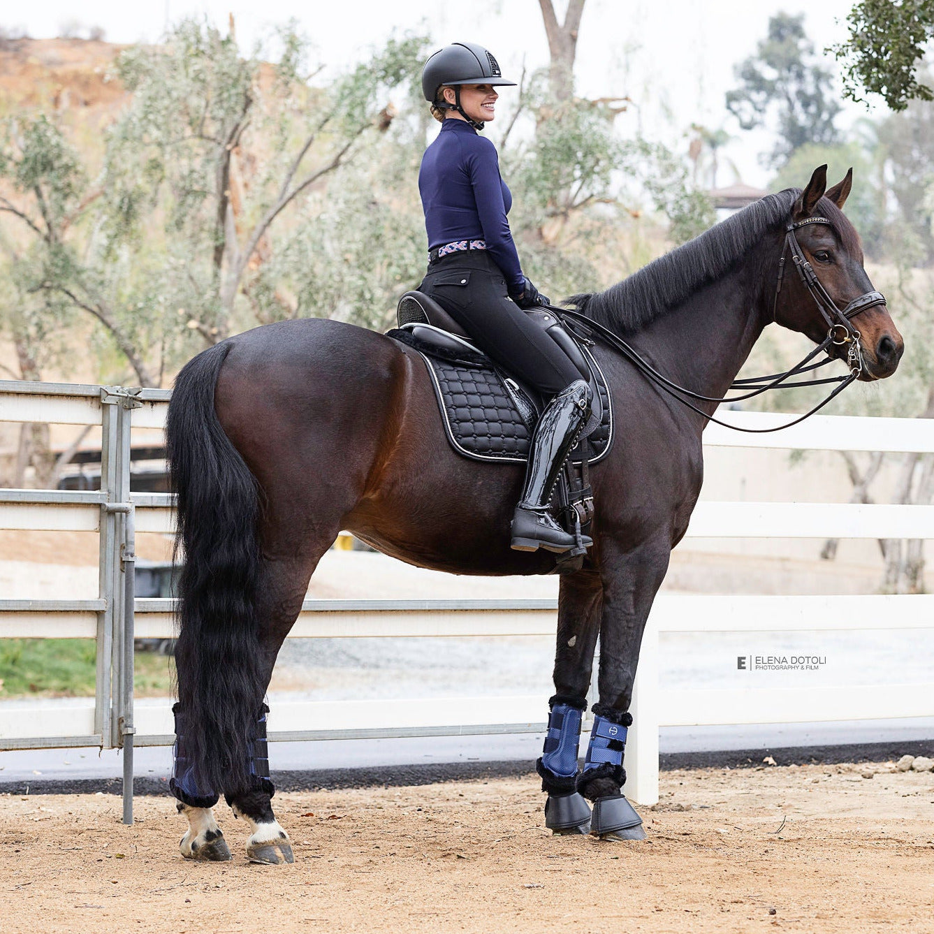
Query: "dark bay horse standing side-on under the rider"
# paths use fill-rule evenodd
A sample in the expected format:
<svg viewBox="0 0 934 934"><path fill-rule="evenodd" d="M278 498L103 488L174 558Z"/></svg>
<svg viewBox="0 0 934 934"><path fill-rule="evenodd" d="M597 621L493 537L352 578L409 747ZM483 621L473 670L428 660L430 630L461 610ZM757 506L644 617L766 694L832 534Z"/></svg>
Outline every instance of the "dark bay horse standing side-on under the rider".
<svg viewBox="0 0 934 934"><path fill-rule="evenodd" d="M819 215L798 228L798 242L837 306L870 292L859 238L841 210L852 170L826 185L821 166L803 191L768 195L612 288L571 301L674 382L720 397L773 321L815 344L827 336L797 277L785 276L776 292L790 223ZM860 310L855 322L859 378L892 375L904 344L884 304ZM596 808L618 799L625 781L625 744L606 737L625 739L631 723L645 620L701 490L701 434L716 404L691 411L611 348L598 342L593 353L612 392L616 441L591 471L594 544L584 566L560 579L549 727L567 739L555 722L558 704L577 711L579 731L598 636L594 712L610 726L590 741L587 766L599 767L577 774L574 735L560 753L573 759L567 773L543 769L542 760L539 771L549 800L573 790ZM291 862L271 806L263 697L337 533L449 573L543 574L555 559L509 546L521 466L456 454L423 361L360 327L289 320L206 349L177 377L167 447L185 562L172 783L189 820L182 854L231 858L212 810L222 792L248 820L248 858Z"/></svg>

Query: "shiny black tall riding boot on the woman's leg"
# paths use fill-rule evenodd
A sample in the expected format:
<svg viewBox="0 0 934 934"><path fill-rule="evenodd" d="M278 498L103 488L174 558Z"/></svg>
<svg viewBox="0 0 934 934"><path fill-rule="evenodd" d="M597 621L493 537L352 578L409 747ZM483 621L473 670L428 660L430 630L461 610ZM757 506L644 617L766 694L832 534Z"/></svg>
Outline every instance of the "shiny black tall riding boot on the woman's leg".
<svg viewBox="0 0 934 934"><path fill-rule="evenodd" d="M564 460L590 417L590 387L578 379L545 408L531 439L522 499L513 516L513 547L517 551L570 551L576 544L551 516L548 502ZM584 545L593 542L585 536Z"/></svg>

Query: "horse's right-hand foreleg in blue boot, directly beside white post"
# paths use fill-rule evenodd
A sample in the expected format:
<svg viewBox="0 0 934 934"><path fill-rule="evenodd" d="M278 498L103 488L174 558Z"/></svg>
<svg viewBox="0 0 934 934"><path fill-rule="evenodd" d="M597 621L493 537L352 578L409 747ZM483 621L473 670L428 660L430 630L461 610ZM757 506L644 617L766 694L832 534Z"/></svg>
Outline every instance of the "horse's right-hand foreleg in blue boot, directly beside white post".
<svg viewBox="0 0 934 934"><path fill-rule="evenodd" d="M645 621L670 555L667 540L627 552L613 542L601 542L600 702L593 705L587 758L577 779L578 790L594 802L590 832L601 839L645 836L642 820L621 794L626 784L623 755Z"/></svg>

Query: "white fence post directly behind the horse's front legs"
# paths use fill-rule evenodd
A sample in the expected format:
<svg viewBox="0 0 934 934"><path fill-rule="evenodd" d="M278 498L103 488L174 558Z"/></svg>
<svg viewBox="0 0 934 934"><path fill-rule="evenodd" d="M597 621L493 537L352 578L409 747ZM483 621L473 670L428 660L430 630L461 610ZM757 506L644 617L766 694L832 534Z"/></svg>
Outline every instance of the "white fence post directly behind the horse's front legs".
<svg viewBox="0 0 934 934"><path fill-rule="evenodd" d="M623 794L639 804L658 802L658 628L649 614L632 686L632 726L626 742Z"/></svg>

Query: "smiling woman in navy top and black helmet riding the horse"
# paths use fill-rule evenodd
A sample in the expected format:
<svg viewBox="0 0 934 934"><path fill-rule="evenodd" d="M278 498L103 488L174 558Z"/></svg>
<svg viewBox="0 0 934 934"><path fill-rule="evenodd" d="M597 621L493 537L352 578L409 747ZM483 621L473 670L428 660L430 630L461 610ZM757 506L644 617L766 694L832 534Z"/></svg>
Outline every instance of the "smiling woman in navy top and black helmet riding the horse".
<svg viewBox="0 0 934 934"><path fill-rule="evenodd" d="M418 189L428 231L428 272L418 289L442 305L504 370L553 397L532 436L522 497L512 522L519 551L568 551L573 535L548 503L561 465L590 411L577 368L522 308L549 304L526 276L506 215L513 198L493 144L477 131L495 117L504 81L482 46L456 42L426 62L421 86L441 121L422 157ZM585 545L590 545L588 538Z"/></svg>

